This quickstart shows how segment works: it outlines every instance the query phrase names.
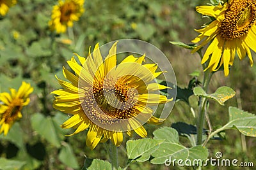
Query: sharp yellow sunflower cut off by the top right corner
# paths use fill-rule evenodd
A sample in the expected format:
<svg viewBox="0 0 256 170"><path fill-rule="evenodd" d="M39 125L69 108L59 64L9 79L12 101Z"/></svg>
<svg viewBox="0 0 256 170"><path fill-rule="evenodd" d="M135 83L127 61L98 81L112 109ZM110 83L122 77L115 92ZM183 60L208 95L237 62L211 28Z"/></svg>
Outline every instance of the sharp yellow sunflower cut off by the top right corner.
<svg viewBox="0 0 256 170"><path fill-rule="evenodd" d="M206 69L217 71L223 65L224 74L228 76L228 66L232 66L236 53L240 60L247 54L250 65L253 65L250 49L256 52L255 0L233 0L218 6L197 6L196 11L215 18L211 24L196 30L200 35L192 40L193 43L202 41L192 52L211 42L202 58L204 64L211 56Z"/></svg>

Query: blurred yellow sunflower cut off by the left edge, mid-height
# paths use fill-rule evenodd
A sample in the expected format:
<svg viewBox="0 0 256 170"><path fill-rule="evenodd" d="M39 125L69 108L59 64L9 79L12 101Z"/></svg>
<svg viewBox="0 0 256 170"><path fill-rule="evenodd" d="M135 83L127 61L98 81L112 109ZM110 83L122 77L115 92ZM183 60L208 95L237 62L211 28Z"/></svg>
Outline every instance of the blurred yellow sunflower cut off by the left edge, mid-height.
<svg viewBox="0 0 256 170"><path fill-rule="evenodd" d="M11 94L7 92L0 93L0 134L8 133L13 123L22 117L21 110L23 106L29 104L29 94L33 92L33 87L29 83L22 82L19 90L10 89Z"/></svg>

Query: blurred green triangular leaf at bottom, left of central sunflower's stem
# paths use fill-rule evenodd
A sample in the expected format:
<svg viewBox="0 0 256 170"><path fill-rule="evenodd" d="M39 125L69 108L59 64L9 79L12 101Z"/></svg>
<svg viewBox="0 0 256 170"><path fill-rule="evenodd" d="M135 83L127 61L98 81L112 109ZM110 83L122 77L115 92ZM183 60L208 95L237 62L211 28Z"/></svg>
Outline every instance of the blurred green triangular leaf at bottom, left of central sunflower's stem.
<svg viewBox="0 0 256 170"><path fill-rule="evenodd" d="M77 169L79 167L74 152L70 145L68 145L68 143L65 143L63 148L61 148L59 159L63 164L67 165L68 167L72 167L74 169Z"/></svg>

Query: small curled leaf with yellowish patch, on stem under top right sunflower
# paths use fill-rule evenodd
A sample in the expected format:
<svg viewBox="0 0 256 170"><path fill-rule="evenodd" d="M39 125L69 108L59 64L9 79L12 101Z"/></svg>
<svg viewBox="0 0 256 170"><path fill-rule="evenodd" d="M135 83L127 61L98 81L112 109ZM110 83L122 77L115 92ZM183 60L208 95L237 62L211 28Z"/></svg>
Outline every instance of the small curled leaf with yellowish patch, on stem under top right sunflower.
<svg viewBox="0 0 256 170"><path fill-rule="evenodd" d="M202 89L202 87L195 87L194 94L195 96L214 99L214 101L217 101L221 105L224 105L225 101L234 97L236 92L230 87L223 86L218 88L216 92L214 92L213 94L206 94L206 92L204 91L204 89Z"/></svg>

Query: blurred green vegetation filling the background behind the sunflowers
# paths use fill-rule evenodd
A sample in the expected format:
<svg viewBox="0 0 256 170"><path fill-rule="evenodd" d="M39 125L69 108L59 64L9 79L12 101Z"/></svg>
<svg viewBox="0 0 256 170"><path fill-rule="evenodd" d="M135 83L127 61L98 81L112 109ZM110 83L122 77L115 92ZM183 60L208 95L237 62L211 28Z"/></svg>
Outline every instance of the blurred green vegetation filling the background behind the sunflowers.
<svg viewBox="0 0 256 170"><path fill-rule="evenodd" d="M170 59L180 87L186 87L193 78L189 73L195 70L202 73L199 56L168 43L189 43L195 38L193 29L202 25L200 15L195 12L195 6L202 4L199 0L86 1L84 14L65 34L54 34L48 28L52 6L56 3L50 0L18 1L5 17L0 18L0 92L7 92L10 87L18 89L22 80L31 83L35 89L31 94L31 103L22 111L23 118L13 125L8 136L0 136L1 159L21 161L18 163L22 169L80 169L84 155L90 159L109 159L103 144L93 151L86 147L86 131L65 137L64 134L70 131L61 129L60 125L68 117L52 108L53 96L50 93L60 88L54 75L62 78L62 66L67 66L65 61L72 57L73 52L86 55L88 47L97 42L103 45L116 39L141 39L157 46ZM224 78L223 73L216 73L212 78L210 92L221 85L228 85L237 92L237 96L225 106L210 104L212 111L209 115L213 125L227 122L228 106L239 106L256 113L256 67L250 68L248 60L240 62L237 59L228 78ZM202 77L198 79L202 80ZM189 100L196 101L196 97ZM193 120L188 105L179 101L168 120L158 127L171 126L174 122L196 124ZM156 126L146 125L146 128L148 136L152 137ZM227 132L225 138L227 140L211 141L210 157L219 151L225 158L239 161L255 159L255 139L246 137L246 145L250 149L244 153L239 132ZM180 140L184 145L188 142L182 137ZM119 152L122 157L127 157L124 145L120 146ZM122 157L119 157L120 166L126 164ZM136 163L130 167L168 168L150 163ZM177 168L186 169L173 169Z"/></svg>

